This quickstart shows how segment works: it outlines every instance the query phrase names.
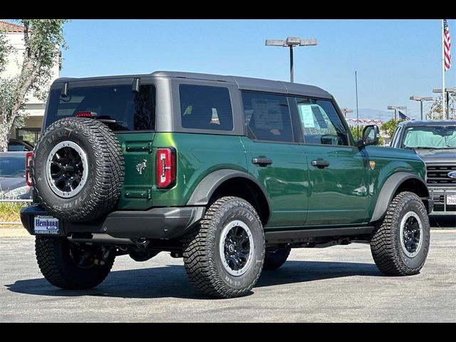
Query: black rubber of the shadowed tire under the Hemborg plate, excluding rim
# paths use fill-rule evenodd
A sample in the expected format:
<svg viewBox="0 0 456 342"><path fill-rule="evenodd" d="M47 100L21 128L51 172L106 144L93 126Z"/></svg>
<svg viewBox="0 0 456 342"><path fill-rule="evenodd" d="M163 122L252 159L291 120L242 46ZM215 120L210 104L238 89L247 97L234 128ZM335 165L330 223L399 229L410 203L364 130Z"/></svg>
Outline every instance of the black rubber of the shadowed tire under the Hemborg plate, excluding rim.
<svg viewBox="0 0 456 342"><path fill-rule="evenodd" d="M111 252L103 265L81 268L71 259L70 244L64 237L36 237L36 261L44 278L53 286L68 290L91 289L105 280L115 254Z"/></svg>

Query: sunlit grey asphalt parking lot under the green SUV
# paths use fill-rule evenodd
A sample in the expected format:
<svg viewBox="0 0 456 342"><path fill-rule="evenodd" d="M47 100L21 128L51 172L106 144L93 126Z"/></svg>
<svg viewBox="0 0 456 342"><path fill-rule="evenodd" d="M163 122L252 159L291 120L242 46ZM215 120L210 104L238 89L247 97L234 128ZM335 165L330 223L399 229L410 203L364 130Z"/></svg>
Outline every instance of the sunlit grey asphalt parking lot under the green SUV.
<svg viewBox="0 0 456 342"><path fill-rule="evenodd" d="M41 276L33 237L0 229L0 321L455 322L455 261L456 229L433 229L417 276L383 276L366 244L294 249L251 295L214 300L192 288L181 259L162 252L143 263L119 257L97 288L65 291Z"/></svg>

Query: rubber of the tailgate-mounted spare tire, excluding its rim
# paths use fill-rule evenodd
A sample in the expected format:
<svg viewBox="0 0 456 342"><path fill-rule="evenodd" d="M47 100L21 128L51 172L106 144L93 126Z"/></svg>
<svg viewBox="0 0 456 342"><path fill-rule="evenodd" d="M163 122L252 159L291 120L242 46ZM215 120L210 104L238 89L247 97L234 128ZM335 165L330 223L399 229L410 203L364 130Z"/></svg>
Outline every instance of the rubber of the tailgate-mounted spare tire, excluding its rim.
<svg viewBox="0 0 456 342"><path fill-rule="evenodd" d="M82 190L70 198L56 195L46 180L46 162L60 142L76 143L86 153L88 177ZM41 206L69 222L87 222L110 212L120 198L124 159L115 134L100 121L65 118L50 125L36 143L33 182Z"/></svg>

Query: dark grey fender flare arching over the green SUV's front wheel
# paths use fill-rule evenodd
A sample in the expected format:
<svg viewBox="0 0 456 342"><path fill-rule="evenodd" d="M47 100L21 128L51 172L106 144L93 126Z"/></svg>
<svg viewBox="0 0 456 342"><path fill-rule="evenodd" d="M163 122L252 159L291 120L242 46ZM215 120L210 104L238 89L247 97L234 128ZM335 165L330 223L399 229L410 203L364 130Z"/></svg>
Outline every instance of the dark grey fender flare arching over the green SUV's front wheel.
<svg viewBox="0 0 456 342"><path fill-rule="evenodd" d="M410 179L417 180L418 182L422 183L427 189L425 182L423 182L420 177L413 175L412 173L397 172L391 175L388 180L386 180L385 184L383 184L382 190L380 190L380 193L378 194L377 203L375 204L375 209L373 210L371 217L371 222L378 221L383 216L385 216L388 205L390 205L390 202L393 200L393 196L396 190L398 190L398 187L400 187L403 182Z"/></svg>

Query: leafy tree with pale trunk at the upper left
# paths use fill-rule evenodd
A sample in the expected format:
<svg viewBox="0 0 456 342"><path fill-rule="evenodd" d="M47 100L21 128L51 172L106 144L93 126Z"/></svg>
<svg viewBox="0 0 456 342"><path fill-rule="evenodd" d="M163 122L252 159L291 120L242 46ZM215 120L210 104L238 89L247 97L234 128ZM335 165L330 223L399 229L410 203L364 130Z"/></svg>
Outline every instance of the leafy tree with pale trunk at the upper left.
<svg viewBox="0 0 456 342"><path fill-rule="evenodd" d="M21 72L10 78L0 79L0 152L8 149L8 137L12 128L20 128L26 120L26 94L33 92L45 100L51 69L60 63L58 47L66 48L63 38L63 19L21 19L24 26L24 60ZM6 67L7 56L12 48L4 35L0 36L0 72Z"/></svg>

